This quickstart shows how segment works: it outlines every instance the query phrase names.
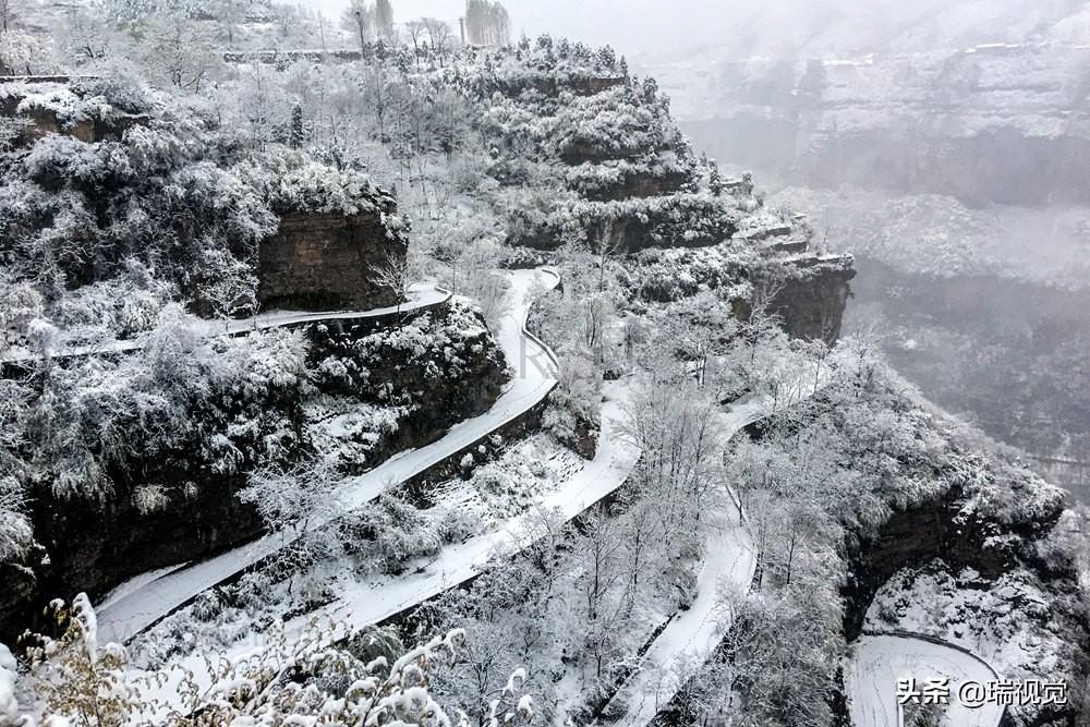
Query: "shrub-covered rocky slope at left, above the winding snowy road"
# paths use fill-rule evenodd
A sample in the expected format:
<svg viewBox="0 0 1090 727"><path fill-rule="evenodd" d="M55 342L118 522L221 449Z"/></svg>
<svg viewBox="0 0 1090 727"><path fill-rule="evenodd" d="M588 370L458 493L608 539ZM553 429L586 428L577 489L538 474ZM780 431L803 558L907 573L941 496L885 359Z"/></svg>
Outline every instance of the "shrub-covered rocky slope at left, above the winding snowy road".
<svg viewBox="0 0 1090 727"><path fill-rule="evenodd" d="M362 174L246 152L124 83L0 83L0 350L33 350L0 378L4 632L57 593L252 538L264 523L238 495L255 472L319 452L370 469L486 410L506 377L463 300L237 336L195 318L392 304L374 268L403 259L408 226ZM82 352L55 356L65 344Z"/></svg>

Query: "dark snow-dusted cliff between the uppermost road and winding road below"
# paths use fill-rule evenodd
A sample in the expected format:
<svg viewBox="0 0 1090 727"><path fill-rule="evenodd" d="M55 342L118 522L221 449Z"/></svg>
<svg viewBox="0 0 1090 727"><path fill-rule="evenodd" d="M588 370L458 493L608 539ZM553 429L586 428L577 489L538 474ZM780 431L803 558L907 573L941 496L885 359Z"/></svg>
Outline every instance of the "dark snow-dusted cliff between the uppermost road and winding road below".
<svg viewBox="0 0 1090 727"><path fill-rule="evenodd" d="M287 449L287 463L320 451L354 474L486 411L505 380L502 353L479 314L460 304L295 328L308 341L312 388L275 389L257 395L261 401L237 393L233 403L196 404L192 428L206 436L169 451L125 452L111 470L114 487L105 500L56 497L48 487L29 498L40 547L24 564L0 564L0 638L32 623L57 593L101 596L133 575L259 535L261 518L238 493L250 472L268 462L259 444L241 439L246 435L235 434L232 422L259 422L241 428L275 438ZM399 344L407 337L411 349ZM385 414L375 425L351 426L365 419L361 412ZM208 443L216 440L238 453L233 471L208 464ZM149 482L165 499L142 508L141 487Z"/></svg>

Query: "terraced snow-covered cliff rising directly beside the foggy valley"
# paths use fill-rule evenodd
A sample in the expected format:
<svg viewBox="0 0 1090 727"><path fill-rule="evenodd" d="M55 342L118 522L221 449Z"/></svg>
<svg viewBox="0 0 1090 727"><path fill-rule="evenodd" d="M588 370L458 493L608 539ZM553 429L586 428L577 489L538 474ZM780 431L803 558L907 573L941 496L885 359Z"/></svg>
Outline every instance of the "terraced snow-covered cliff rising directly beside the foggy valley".
<svg viewBox="0 0 1090 727"><path fill-rule="evenodd" d="M774 284L772 308L790 335L836 340L855 275L850 256L812 251L804 220L765 208L749 175L725 179L694 155L654 80L600 83L590 69L565 63L549 75L543 69L557 61L548 49L538 45L543 59L525 48L501 53L499 70L486 68L470 83L479 87L496 180L513 187L549 179L559 187L505 205L510 244L550 252L581 239L627 254L644 268L633 290L653 302L679 301L701 286ZM715 250L701 256L702 249ZM740 317L750 307L735 301Z"/></svg>

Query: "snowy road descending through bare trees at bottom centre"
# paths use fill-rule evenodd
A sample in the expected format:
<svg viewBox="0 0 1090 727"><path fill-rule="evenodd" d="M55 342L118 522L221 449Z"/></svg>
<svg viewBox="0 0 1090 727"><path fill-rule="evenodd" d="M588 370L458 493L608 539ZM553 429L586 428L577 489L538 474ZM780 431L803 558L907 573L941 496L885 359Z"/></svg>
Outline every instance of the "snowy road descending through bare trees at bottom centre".
<svg viewBox="0 0 1090 727"><path fill-rule="evenodd" d="M723 415L727 437L765 416L770 402L736 403ZM702 665L718 645L730 623L719 608L719 586L729 582L746 589L753 580L756 558L739 510L730 505L708 523L705 555L697 577L697 598L658 634L644 654L639 670L614 696L625 713L610 720L625 727L642 727L665 707L691 669ZM608 713L609 707L606 707Z"/></svg>

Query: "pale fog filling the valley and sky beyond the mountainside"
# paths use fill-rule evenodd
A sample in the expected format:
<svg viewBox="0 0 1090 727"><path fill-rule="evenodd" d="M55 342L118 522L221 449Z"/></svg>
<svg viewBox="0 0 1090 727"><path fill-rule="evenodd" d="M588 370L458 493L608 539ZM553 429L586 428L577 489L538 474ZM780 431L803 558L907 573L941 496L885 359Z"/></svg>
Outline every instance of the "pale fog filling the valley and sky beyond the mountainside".
<svg viewBox="0 0 1090 727"><path fill-rule="evenodd" d="M464 7L393 4L452 24ZM698 152L855 253L849 324L925 393L1034 457L1090 459L1090 3L505 4L516 36L616 48ZM968 310L967 286L1003 304ZM1087 471L1047 474L1087 490Z"/></svg>

